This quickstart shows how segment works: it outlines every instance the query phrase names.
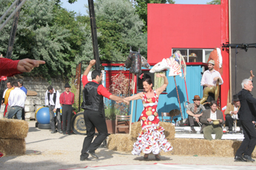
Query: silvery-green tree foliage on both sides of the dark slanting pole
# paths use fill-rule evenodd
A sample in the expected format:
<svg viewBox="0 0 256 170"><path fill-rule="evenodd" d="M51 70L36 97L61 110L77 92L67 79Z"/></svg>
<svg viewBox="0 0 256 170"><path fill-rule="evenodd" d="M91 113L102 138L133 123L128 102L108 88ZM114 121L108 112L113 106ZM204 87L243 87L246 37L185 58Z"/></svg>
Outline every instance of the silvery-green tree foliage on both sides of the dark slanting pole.
<svg viewBox="0 0 256 170"><path fill-rule="evenodd" d="M0 16L15 0L0 0ZM74 3L76 0L69 1ZM14 9L13 9L14 10ZM88 9L87 9L88 10ZM146 57L143 21L128 0L96 0L98 47L102 61L125 61L132 50L141 48ZM0 32L0 53L6 55L10 21ZM89 16L61 7L60 0L27 0L21 8L12 59L46 61L27 76L70 78L80 61L93 58Z"/></svg>

